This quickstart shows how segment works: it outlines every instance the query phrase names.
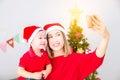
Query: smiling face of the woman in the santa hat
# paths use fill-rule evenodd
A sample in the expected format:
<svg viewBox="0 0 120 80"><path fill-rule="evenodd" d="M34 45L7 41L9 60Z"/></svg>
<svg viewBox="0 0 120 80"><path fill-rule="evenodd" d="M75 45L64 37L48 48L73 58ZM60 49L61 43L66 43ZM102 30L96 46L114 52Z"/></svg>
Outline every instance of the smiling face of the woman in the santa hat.
<svg viewBox="0 0 120 80"><path fill-rule="evenodd" d="M63 50L64 39L60 30L52 30L48 33L49 46L53 51Z"/></svg>

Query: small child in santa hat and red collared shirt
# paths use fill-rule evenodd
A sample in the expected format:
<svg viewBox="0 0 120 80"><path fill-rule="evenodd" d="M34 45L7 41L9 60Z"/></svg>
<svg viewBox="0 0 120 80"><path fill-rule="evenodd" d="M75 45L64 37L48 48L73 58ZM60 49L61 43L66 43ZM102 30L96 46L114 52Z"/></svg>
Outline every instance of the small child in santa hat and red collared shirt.
<svg viewBox="0 0 120 80"><path fill-rule="evenodd" d="M30 49L20 58L18 80L45 79L51 72L51 64L45 50L46 33L41 27L24 28L23 38L30 44Z"/></svg>

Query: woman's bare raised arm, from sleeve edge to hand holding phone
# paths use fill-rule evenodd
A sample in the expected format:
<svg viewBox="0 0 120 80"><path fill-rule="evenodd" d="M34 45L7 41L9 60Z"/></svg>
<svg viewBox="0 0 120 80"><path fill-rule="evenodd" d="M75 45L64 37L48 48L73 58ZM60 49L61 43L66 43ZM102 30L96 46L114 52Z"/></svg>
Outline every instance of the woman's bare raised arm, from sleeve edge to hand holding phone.
<svg viewBox="0 0 120 80"><path fill-rule="evenodd" d="M106 53L108 42L110 39L110 34L105 26L105 24L96 15L87 16L88 26L94 31L100 34L101 40L96 49L96 55L98 57L103 57Z"/></svg>

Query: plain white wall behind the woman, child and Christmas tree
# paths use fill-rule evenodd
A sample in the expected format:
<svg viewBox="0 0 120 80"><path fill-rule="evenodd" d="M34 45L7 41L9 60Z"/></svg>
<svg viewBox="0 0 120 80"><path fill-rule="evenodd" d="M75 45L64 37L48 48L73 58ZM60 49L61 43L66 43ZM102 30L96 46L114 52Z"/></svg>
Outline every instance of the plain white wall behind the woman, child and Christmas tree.
<svg viewBox="0 0 120 80"><path fill-rule="evenodd" d="M99 68L102 80L120 80L120 1L119 0L0 0L0 43L22 34L28 25L43 26L50 22L61 22L66 28L70 23L69 10L78 7L98 14L110 31L111 39L103 65ZM86 26L82 26L86 29ZM86 29L91 48L98 44L98 35ZM89 33L89 34L87 34ZM14 48L0 49L0 80L17 77L16 69L20 56L28 45L15 42Z"/></svg>

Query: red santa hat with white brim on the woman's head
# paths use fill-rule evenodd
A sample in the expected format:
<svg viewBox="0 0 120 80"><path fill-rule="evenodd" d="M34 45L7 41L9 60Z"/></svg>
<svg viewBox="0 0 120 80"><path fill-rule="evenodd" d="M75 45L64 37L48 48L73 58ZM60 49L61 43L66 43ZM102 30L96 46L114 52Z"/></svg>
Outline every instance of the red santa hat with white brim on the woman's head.
<svg viewBox="0 0 120 80"><path fill-rule="evenodd" d="M48 34L48 32L50 32L54 29L58 29L66 34L64 27L60 23L51 23L51 24L46 24L44 26L44 30L46 30L46 34Z"/></svg>

